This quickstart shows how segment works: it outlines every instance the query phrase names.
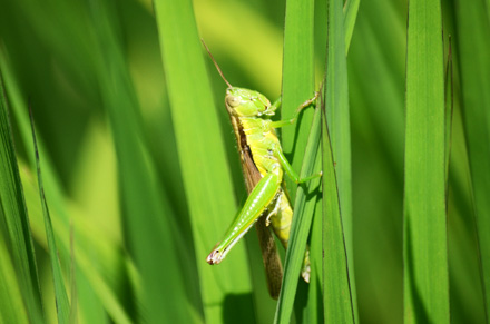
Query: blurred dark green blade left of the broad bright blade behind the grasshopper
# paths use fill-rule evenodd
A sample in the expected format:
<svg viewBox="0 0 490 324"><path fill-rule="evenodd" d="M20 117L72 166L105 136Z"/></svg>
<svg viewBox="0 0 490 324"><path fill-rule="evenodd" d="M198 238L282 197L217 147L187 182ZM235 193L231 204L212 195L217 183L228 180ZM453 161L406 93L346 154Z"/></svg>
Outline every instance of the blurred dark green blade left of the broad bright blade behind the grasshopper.
<svg viewBox="0 0 490 324"><path fill-rule="evenodd" d="M147 322L165 318L192 323L195 320L180 268L186 258L179 256L184 251L182 245L175 244L178 230L171 223L174 215L149 159L135 89L118 38L119 21L114 4L92 1L91 14L100 50L97 70L102 100L116 145L124 222L129 248L141 275L139 306L145 308L138 310L138 316L139 321Z"/></svg>

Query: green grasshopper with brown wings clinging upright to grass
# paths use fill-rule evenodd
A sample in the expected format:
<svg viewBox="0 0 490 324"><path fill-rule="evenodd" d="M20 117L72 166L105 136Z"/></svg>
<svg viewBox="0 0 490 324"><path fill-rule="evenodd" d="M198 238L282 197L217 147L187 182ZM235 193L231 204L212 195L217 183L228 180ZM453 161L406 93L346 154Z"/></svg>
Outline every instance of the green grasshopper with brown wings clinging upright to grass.
<svg viewBox="0 0 490 324"><path fill-rule="evenodd" d="M293 209L283 181L284 173L296 184L321 177L322 173L300 178L283 154L275 128L293 125L304 108L315 104L317 94L312 99L303 102L292 119L273 121L270 118L281 107L281 98L271 105L271 101L257 91L233 87L226 80L207 46L205 43L204 46L223 80L228 85L225 105L237 139L245 183L249 194L244 207L232 223L223 240L208 255L207 263L219 264L232 247L265 215L267 215L264 218L265 222L262 220L258 224L272 225L275 235L284 248L287 248ZM271 276L268 279L270 292L274 297L281 288L281 262L274 256L275 249L271 251L271 245L275 245L270 236L270 232L264 232L258 226L257 230L261 245L263 246L264 264L266 267L272 266L273 272L280 272L278 288L277 284L273 284L274 287L271 286ZM271 238L267 237L267 233ZM264 246L266 247L265 251ZM305 253L302 276L306 282L310 281L307 251ZM277 281L277 275L275 277Z"/></svg>

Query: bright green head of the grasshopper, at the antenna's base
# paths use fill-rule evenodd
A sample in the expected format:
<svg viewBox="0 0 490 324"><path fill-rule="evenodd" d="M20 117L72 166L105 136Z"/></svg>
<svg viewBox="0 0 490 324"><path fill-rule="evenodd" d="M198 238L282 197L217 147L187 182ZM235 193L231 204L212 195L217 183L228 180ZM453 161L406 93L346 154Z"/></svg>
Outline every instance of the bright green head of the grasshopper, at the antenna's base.
<svg viewBox="0 0 490 324"><path fill-rule="evenodd" d="M228 88L225 104L228 112L237 117L272 116L275 110L264 95L244 88Z"/></svg>

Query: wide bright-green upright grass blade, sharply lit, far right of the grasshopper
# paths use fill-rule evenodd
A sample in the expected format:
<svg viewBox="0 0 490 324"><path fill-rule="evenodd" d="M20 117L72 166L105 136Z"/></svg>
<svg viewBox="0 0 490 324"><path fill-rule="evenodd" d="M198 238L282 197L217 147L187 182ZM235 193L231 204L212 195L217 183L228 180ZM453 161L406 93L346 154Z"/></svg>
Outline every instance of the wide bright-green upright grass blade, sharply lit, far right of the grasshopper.
<svg viewBox="0 0 490 324"><path fill-rule="evenodd" d="M449 323L440 2L411 0L408 33L404 320Z"/></svg>

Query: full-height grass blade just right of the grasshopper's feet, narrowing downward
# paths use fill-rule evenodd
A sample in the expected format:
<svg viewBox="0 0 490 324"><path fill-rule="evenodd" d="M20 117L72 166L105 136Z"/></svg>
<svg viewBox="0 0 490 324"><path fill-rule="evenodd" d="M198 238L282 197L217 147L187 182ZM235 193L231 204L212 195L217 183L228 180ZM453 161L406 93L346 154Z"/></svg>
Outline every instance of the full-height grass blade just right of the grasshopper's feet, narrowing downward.
<svg viewBox="0 0 490 324"><path fill-rule="evenodd" d="M349 107L347 86L347 61L346 42L352 31L344 31L342 19L342 1L330 0L327 2L329 27L327 27L327 55L326 55L326 92L325 92L325 118L329 128L330 143L332 145L335 163L336 186L340 198L340 210L342 210L342 234L346 248L346 269L349 271L349 293L354 314L354 322L357 322L357 297L354 283L354 249L353 249L353 220L352 220L352 168L351 168L351 121ZM355 7L346 13L351 20L356 18ZM353 23L353 22L352 22ZM325 155L325 153L323 153ZM331 194L331 193L324 193ZM333 194L333 193L332 193ZM325 204L325 202L324 202ZM324 212L325 213L325 212ZM325 242L324 242L325 244ZM336 242L340 248L340 242ZM325 246L324 246L325 249ZM336 252L340 253L340 252ZM326 269L324 268L324 272ZM340 268L336 272L341 271ZM341 276L342 277L342 276ZM326 283L325 283L326 284ZM326 288L326 286L325 286ZM343 287L344 292L347 287ZM324 292L326 294L326 292ZM333 306L333 305L330 305Z"/></svg>

